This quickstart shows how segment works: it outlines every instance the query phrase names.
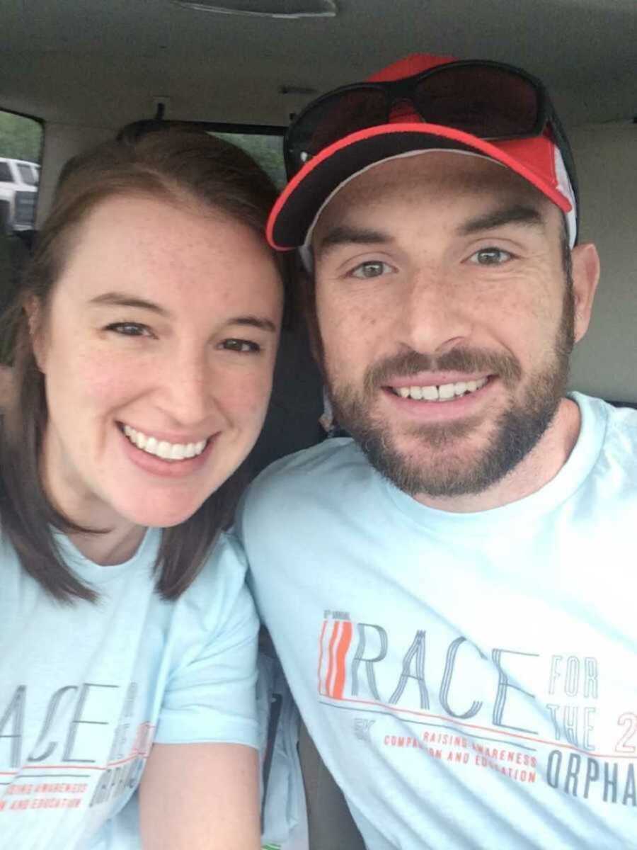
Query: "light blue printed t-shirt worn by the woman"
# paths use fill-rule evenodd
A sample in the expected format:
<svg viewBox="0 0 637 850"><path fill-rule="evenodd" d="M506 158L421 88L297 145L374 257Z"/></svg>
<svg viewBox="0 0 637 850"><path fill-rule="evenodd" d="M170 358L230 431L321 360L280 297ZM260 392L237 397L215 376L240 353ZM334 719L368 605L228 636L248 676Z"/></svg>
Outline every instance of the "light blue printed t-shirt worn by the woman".
<svg viewBox="0 0 637 850"><path fill-rule="evenodd" d="M0 543L1 847L138 847L134 802L124 807L154 741L258 745L239 547L222 536L166 602L152 575L160 536L148 530L131 560L106 567L57 536L97 604L55 602Z"/></svg>

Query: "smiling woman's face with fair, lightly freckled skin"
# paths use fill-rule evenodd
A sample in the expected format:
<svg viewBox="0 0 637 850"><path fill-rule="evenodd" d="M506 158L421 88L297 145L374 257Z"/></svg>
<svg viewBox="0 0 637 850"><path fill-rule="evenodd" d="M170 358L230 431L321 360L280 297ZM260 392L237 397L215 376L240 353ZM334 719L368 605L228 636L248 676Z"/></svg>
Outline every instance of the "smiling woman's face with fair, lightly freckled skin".
<svg viewBox="0 0 637 850"><path fill-rule="evenodd" d="M268 249L223 212L95 207L36 331L55 505L109 529L188 519L262 427L282 301Z"/></svg>

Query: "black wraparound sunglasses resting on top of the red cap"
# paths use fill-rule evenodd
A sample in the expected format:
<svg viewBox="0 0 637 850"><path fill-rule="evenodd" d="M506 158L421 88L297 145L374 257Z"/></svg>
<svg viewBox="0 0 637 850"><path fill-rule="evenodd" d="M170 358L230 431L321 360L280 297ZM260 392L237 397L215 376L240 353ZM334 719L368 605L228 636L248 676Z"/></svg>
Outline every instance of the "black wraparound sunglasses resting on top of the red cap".
<svg viewBox="0 0 637 850"><path fill-rule="evenodd" d="M548 124L577 196L571 147L542 82L513 65L473 59L402 80L353 83L314 100L285 133L288 177L330 144L401 111L488 140L540 136Z"/></svg>

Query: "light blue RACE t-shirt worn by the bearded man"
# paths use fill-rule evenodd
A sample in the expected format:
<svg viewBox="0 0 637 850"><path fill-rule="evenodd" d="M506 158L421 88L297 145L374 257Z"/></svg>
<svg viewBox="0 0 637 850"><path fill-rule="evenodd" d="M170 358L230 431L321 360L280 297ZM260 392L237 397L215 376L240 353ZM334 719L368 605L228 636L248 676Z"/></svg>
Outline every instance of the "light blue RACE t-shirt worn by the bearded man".
<svg viewBox="0 0 637 850"><path fill-rule="evenodd" d="M240 513L257 608L369 850L637 848L637 411L483 513L421 505L349 439Z"/></svg>

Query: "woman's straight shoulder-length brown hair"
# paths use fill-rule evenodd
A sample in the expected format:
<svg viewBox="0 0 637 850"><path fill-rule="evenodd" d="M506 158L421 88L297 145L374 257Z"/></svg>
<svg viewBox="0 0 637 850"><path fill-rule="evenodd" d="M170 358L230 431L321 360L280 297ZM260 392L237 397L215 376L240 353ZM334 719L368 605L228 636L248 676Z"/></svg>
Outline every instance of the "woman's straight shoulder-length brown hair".
<svg viewBox="0 0 637 850"><path fill-rule="evenodd" d="M177 204L195 201L262 234L276 190L256 162L234 144L183 127L140 132L132 126L116 140L76 156L65 166L25 279L3 322L3 338L13 341L9 362L14 386L0 417L2 534L14 546L23 569L62 602L97 597L61 558L54 529L94 530L83 529L59 513L42 486L39 460L47 403L25 304L35 299L38 313L46 316L77 227L106 198L139 194ZM240 467L193 516L162 531L155 575L164 598L178 598L194 581L219 531L228 525L244 483Z"/></svg>

